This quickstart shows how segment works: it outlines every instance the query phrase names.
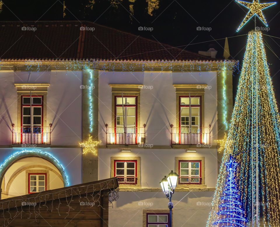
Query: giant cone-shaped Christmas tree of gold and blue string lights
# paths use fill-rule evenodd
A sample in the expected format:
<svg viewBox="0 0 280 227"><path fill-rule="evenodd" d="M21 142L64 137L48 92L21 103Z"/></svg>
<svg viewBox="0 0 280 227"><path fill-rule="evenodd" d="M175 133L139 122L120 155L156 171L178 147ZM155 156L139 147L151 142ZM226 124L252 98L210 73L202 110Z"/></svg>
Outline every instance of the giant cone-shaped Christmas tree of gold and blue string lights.
<svg viewBox="0 0 280 227"><path fill-rule="evenodd" d="M280 226L279 112L260 31L248 34L237 97L207 227L219 219L230 154L247 226ZM227 215L224 214L224 218ZM245 222L243 223L245 225ZM218 226L238 226L236 223Z"/></svg>

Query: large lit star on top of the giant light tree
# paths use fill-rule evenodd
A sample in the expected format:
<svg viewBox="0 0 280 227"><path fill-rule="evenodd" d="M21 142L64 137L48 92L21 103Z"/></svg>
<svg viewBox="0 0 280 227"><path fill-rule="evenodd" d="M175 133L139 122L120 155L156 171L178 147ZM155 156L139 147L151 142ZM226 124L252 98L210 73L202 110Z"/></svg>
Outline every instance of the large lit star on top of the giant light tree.
<svg viewBox="0 0 280 227"><path fill-rule="evenodd" d="M235 0L237 3L241 4L242 6L245 6L250 11L247 13L244 20L239 25L237 32L254 16L257 15L258 18L265 24L266 27L268 27L267 22L265 20L265 16L263 15L262 11L270 6L275 5L277 2L268 2L268 3L260 3L260 0L253 0L253 2L247 2L247 1L240 1Z"/></svg>

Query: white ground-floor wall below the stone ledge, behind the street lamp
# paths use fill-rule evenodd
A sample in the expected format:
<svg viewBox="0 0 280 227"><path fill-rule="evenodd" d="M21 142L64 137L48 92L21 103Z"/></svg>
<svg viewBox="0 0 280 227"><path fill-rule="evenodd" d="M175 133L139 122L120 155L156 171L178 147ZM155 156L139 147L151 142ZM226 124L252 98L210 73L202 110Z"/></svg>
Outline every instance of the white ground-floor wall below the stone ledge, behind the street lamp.
<svg viewBox="0 0 280 227"><path fill-rule="evenodd" d="M143 209L168 209L162 192L119 192L119 196L109 209L109 226L143 227ZM174 193L173 226L205 227L212 196L213 192Z"/></svg>

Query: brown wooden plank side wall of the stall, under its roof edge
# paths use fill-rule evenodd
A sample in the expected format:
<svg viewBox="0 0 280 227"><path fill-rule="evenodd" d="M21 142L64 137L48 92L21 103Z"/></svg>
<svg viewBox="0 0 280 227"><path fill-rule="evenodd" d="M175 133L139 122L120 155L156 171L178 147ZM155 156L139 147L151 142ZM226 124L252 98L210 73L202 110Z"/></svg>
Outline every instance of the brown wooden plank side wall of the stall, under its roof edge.
<svg viewBox="0 0 280 227"><path fill-rule="evenodd" d="M88 195L81 194L81 198L79 195L75 195L72 198L68 196L66 198L43 201L39 204L37 203L36 206L25 205L4 210L1 210L0 207L0 226L108 227L108 200L110 192L110 189L102 190L100 196L99 192L96 192L94 198L95 200L99 198L99 200L93 206L91 206L92 204L83 205L86 202L93 202L92 193L90 193ZM70 209L67 206L69 202Z"/></svg>

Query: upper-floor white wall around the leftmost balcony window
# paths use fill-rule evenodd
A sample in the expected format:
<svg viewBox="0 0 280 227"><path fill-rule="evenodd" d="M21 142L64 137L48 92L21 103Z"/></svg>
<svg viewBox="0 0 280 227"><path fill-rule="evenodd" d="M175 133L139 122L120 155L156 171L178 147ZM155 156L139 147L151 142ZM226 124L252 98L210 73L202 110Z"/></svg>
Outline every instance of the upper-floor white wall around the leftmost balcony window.
<svg viewBox="0 0 280 227"><path fill-rule="evenodd" d="M66 74L67 73L67 74ZM0 145L11 144L12 127L17 125L17 88L15 83L49 83L47 126L53 123L52 145L77 145L82 135L82 72L0 71Z"/></svg>

